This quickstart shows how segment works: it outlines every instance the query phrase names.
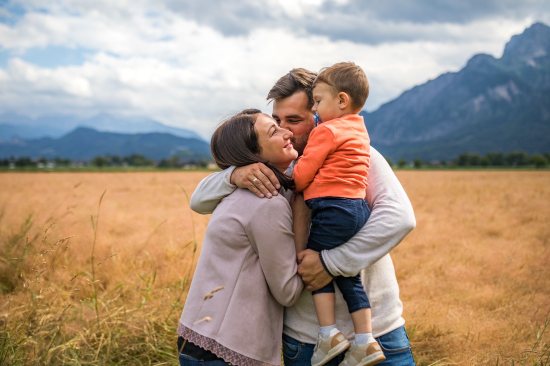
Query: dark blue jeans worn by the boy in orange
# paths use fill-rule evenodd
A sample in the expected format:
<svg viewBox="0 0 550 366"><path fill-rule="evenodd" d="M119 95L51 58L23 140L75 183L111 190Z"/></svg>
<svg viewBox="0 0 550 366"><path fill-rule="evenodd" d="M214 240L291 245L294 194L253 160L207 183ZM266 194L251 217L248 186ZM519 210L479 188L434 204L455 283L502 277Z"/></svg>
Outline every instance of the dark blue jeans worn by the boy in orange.
<svg viewBox="0 0 550 366"><path fill-rule="evenodd" d="M311 209L307 248L317 252L335 248L350 240L365 225L371 214L364 199L319 197L308 199L306 204ZM349 313L371 307L359 274L354 277L338 276L334 282L348 304ZM323 292L334 292L332 281L312 294Z"/></svg>

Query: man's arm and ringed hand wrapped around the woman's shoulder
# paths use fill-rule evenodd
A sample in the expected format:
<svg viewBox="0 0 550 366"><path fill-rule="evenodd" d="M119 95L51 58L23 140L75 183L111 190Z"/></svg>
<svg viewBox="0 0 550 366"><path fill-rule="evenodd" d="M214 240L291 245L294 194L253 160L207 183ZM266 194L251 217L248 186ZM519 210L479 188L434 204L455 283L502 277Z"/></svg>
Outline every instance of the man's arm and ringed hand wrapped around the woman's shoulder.
<svg viewBox="0 0 550 366"><path fill-rule="evenodd" d="M229 167L201 180L191 195L190 207L196 213L211 214L219 201L237 187L246 188L261 198L271 198L277 196L281 185L273 171L262 163Z"/></svg>

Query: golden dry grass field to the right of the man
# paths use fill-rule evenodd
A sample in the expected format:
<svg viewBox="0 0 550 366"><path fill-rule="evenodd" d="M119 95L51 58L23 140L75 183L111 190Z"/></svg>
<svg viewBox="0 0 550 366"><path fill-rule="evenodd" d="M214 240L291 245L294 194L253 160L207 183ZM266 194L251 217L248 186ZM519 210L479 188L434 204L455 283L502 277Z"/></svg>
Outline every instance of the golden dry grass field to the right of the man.
<svg viewBox="0 0 550 366"><path fill-rule="evenodd" d="M392 253L417 362L549 364L550 173L398 176L417 218Z"/></svg>

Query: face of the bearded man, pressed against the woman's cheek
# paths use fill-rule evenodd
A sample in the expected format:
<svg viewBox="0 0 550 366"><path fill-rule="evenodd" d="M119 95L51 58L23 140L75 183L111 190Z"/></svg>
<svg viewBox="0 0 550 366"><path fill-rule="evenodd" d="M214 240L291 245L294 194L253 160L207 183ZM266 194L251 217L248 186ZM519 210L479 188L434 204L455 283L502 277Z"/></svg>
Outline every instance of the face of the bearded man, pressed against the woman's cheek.
<svg viewBox="0 0 550 366"><path fill-rule="evenodd" d="M307 95L303 91L273 101L273 119L281 128L292 131L294 136L290 141L300 156L304 152L311 130L315 127L313 113L307 104Z"/></svg>

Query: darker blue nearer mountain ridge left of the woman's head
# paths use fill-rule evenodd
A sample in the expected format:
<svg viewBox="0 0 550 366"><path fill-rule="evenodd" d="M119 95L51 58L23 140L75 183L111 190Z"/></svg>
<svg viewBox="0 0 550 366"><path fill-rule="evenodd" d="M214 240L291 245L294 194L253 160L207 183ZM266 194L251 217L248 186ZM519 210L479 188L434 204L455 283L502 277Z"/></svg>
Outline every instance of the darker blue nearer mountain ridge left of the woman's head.
<svg viewBox="0 0 550 366"><path fill-rule="evenodd" d="M181 162L211 159L210 145L202 139L178 137L153 132L149 134L118 134L78 127L60 138L42 137L35 140L12 138L0 142L0 158L67 158L91 160L97 156L141 154L159 161L178 156Z"/></svg>

